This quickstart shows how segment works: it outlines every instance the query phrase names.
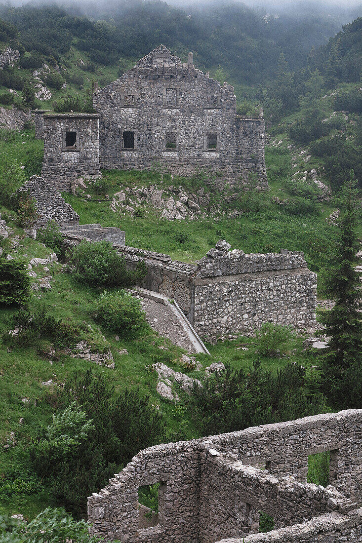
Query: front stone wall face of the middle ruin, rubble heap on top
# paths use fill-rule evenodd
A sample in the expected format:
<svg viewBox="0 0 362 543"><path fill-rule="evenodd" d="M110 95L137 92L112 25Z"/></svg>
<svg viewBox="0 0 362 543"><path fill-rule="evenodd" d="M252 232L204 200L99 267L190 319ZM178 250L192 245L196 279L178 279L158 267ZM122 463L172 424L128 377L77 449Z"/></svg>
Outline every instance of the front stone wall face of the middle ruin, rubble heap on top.
<svg viewBox="0 0 362 543"><path fill-rule="evenodd" d="M264 323L315 325L317 276L301 254L229 249L220 241L198 263L192 324L201 336L250 333Z"/></svg>

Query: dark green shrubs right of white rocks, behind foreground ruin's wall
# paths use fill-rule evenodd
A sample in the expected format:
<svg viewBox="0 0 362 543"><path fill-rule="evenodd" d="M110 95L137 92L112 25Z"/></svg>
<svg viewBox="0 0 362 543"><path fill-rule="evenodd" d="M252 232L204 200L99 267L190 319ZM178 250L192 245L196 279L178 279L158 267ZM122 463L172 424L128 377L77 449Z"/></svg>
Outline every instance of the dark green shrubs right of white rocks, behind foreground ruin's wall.
<svg viewBox="0 0 362 543"><path fill-rule="evenodd" d="M277 374L254 362L248 371L226 369L194 384L190 409L203 435L244 430L249 426L294 420L323 413L320 375L288 363Z"/></svg>

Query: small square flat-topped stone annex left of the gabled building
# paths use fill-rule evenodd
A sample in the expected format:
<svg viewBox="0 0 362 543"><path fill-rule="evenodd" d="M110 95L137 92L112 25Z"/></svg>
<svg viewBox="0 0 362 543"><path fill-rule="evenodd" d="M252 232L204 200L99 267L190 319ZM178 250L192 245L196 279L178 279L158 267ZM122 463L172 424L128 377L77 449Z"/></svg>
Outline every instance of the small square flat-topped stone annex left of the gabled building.
<svg viewBox="0 0 362 543"><path fill-rule="evenodd" d="M101 177L99 115L57 113L43 115L44 159L42 178L59 191L70 192L79 177Z"/></svg>

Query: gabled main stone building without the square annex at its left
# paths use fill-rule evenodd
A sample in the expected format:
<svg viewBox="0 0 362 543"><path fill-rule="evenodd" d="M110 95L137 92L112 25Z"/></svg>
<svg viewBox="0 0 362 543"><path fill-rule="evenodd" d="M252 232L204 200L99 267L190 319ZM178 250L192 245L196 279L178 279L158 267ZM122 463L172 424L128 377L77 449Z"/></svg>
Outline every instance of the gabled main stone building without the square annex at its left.
<svg viewBox="0 0 362 543"><path fill-rule="evenodd" d="M207 170L222 186L267 188L263 118L236 115L233 87L183 63L163 45L93 94L104 168L155 165L179 175ZM127 135L133 133L134 148ZM126 137L126 140L125 140Z"/></svg>

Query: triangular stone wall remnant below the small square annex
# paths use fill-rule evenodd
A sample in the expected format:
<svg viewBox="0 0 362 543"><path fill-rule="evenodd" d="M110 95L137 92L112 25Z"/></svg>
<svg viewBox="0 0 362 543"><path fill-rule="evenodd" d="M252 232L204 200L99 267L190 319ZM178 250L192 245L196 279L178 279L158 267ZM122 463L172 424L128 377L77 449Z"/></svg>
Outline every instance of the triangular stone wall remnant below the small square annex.
<svg viewBox="0 0 362 543"><path fill-rule="evenodd" d="M36 200L36 211L39 213L38 225L46 225L55 220L59 225L76 225L79 215L70 204L66 204L60 192L49 185L42 177L33 175L21 191L27 191L30 198Z"/></svg>

